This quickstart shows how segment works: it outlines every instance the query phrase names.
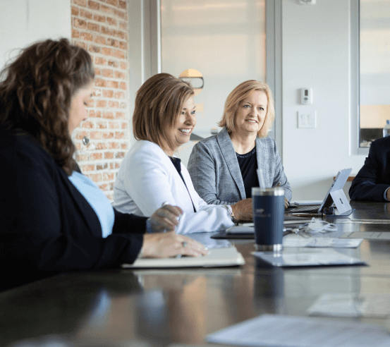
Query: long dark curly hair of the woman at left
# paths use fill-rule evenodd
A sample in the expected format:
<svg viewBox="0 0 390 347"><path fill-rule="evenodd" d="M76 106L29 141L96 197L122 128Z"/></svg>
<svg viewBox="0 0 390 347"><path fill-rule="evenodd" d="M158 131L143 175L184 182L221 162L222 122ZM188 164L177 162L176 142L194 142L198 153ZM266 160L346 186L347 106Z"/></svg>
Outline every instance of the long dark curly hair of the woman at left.
<svg viewBox="0 0 390 347"><path fill-rule="evenodd" d="M94 77L90 54L68 39L32 44L0 73L0 129L32 135L71 175L71 98Z"/></svg>

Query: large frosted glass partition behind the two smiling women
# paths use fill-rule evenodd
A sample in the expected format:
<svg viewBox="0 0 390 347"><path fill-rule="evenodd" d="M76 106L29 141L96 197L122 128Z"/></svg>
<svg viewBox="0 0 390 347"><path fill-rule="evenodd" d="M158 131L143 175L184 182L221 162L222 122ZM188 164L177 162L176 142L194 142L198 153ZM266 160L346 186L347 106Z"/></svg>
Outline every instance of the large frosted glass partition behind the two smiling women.
<svg viewBox="0 0 390 347"><path fill-rule="evenodd" d="M265 82L265 0L162 0L161 32L162 72L196 88L193 141L179 151L186 164L194 141L219 131L231 90Z"/></svg>

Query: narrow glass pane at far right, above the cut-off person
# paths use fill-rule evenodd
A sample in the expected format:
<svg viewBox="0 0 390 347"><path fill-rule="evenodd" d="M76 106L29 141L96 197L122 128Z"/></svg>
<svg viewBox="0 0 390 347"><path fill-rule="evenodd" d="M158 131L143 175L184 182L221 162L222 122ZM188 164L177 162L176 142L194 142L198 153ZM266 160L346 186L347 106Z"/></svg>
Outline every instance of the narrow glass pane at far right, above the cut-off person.
<svg viewBox="0 0 390 347"><path fill-rule="evenodd" d="M390 121L390 1L360 0L360 147Z"/></svg>

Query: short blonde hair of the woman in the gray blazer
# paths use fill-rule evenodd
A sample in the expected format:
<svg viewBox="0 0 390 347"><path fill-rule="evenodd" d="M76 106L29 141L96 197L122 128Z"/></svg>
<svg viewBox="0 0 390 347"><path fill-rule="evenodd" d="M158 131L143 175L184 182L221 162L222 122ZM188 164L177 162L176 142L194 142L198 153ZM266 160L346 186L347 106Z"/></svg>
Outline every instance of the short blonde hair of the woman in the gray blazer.
<svg viewBox="0 0 390 347"><path fill-rule="evenodd" d="M260 90L267 95L267 114L265 115L262 128L257 133L260 138L266 138L268 136L269 128L271 128L275 118L274 98L272 97L272 91L267 83L258 80L246 80L233 89L226 99L224 114L221 121L218 123L218 126L226 128L228 133L233 133L236 130L236 111L238 105L255 90Z"/></svg>

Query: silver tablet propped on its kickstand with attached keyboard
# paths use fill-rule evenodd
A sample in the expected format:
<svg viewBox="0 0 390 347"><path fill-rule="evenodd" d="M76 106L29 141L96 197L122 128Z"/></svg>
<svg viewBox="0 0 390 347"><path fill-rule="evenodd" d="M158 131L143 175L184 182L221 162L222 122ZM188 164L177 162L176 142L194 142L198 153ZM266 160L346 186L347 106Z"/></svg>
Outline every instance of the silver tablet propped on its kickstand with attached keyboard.
<svg viewBox="0 0 390 347"><path fill-rule="evenodd" d="M343 169L337 173L334 181L331 183L331 188L324 200L319 206L305 206L305 207L288 207L286 214L291 213L326 213L332 207L336 205L339 214L337 216L348 216L353 212L351 205L349 205L348 199L344 194L343 187L346 184L349 174L352 169Z"/></svg>

